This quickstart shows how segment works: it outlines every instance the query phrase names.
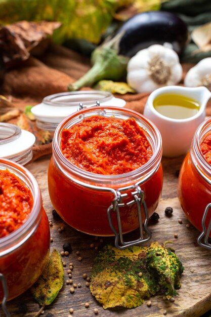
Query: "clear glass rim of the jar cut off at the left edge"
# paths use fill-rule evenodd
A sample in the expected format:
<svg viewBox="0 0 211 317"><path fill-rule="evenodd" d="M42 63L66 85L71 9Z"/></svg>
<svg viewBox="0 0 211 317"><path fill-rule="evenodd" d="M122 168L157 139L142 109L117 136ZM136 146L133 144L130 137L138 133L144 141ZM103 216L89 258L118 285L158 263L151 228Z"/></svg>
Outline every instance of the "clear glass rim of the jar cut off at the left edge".
<svg viewBox="0 0 211 317"><path fill-rule="evenodd" d="M0 169L8 169L30 189L33 207L26 221L16 230L0 238L0 257L19 248L33 234L41 219L41 192L35 177L22 165L0 158ZM39 211L39 212L37 212Z"/></svg>

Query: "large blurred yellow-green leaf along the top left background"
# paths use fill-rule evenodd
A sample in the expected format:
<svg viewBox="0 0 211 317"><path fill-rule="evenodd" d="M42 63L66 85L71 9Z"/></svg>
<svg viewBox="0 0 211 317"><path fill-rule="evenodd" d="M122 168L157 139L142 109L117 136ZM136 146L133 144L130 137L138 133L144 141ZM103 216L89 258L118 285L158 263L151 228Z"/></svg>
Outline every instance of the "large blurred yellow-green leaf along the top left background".
<svg viewBox="0 0 211 317"><path fill-rule="evenodd" d="M81 38L99 43L118 8L132 0L4 0L0 2L0 23L16 21L57 21L62 26L54 32L54 40Z"/></svg>

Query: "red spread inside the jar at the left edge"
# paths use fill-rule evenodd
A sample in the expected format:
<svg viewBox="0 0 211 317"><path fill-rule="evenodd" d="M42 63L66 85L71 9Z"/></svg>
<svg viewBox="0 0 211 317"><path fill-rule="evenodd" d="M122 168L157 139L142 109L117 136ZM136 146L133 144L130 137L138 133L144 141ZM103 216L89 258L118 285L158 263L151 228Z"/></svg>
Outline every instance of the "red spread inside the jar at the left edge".
<svg viewBox="0 0 211 317"><path fill-rule="evenodd" d="M0 238L19 228L33 206L33 197L18 177L0 170Z"/></svg>

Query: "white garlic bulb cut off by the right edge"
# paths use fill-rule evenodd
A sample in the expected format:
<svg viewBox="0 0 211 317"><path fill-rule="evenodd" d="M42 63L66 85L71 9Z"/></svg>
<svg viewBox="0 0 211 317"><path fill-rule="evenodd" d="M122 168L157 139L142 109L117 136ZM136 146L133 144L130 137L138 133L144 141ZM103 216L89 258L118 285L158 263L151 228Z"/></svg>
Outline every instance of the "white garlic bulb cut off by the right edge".
<svg viewBox="0 0 211 317"><path fill-rule="evenodd" d="M185 86L205 86L211 91L211 57L204 58L187 72L184 79Z"/></svg>

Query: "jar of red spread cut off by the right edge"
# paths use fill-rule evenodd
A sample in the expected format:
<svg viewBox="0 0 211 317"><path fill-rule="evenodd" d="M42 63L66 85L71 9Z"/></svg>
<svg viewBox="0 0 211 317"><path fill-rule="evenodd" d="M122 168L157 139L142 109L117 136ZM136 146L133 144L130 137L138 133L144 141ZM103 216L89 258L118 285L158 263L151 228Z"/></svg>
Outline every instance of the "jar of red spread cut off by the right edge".
<svg viewBox="0 0 211 317"><path fill-rule="evenodd" d="M178 197L188 220L202 231L205 207L211 203L211 118L196 130L180 169ZM205 226L208 225L208 218Z"/></svg>

